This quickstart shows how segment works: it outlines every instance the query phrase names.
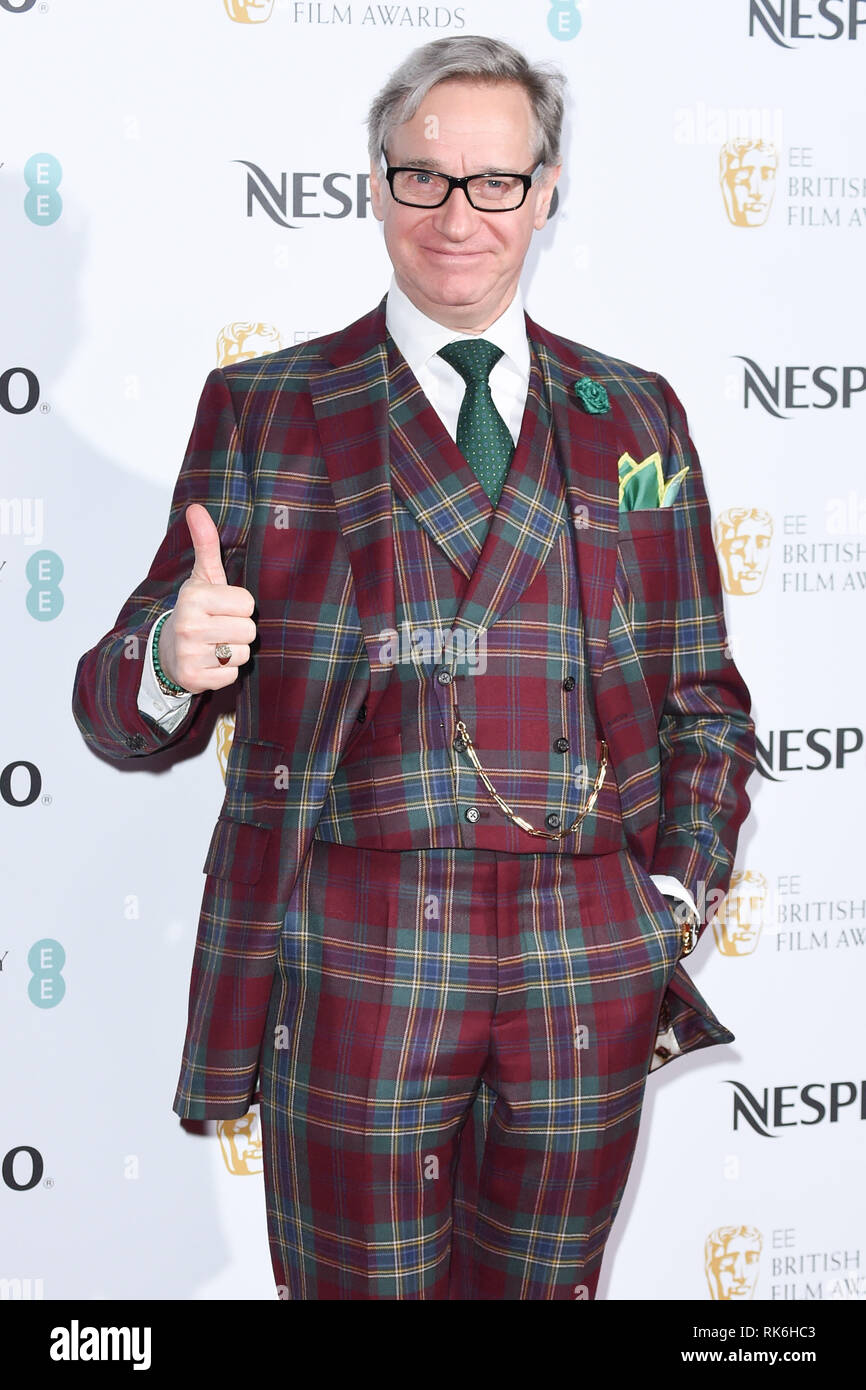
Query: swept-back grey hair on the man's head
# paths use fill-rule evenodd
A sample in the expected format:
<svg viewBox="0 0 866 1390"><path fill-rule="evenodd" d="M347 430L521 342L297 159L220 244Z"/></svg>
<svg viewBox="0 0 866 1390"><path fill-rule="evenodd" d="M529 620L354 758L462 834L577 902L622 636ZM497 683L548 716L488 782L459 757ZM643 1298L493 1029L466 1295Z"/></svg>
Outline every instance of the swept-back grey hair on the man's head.
<svg viewBox="0 0 866 1390"><path fill-rule="evenodd" d="M535 118L535 161L559 164L564 113L566 76L553 64L534 67L523 53L499 39L461 35L435 39L414 49L391 74L374 97L367 115L370 160L378 164L382 146L395 126L411 121L421 101L436 82L517 82L524 89Z"/></svg>

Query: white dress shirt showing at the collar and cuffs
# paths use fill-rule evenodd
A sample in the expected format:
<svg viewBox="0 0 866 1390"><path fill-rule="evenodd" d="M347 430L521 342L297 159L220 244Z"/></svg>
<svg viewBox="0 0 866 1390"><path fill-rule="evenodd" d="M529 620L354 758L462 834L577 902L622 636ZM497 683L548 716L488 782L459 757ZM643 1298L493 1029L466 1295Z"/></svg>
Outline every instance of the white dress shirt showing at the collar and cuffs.
<svg viewBox="0 0 866 1390"><path fill-rule="evenodd" d="M520 286L509 307L489 328L485 328L482 334L466 334L446 328L435 318L428 318L413 304L392 275L385 306L385 327L417 377L421 391L455 441L466 382L443 357L438 356L439 349L445 348L446 343L480 336L502 348L502 357L492 367L489 375L491 396L509 427L514 443L517 443L530 389L530 343ZM160 689L153 669L153 628L147 638L147 651L142 666L138 708L167 733L172 733L186 716L192 695L164 695ZM660 892L687 902L692 912L696 912L692 895L678 878L670 874L652 874L651 877ZM673 1029L663 1041L667 1042L671 1054L680 1051ZM653 1059L653 1065L659 1063Z"/></svg>

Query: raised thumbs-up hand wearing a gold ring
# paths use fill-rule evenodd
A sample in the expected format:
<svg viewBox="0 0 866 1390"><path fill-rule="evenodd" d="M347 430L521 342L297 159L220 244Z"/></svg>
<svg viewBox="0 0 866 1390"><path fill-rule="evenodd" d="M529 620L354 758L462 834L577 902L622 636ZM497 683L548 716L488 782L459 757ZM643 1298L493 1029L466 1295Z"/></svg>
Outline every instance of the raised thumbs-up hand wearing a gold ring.
<svg viewBox="0 0 866 1390"><path fill-rule="evenodd" d="M227 581L220 532L199 502L186 507L186 525L195 563L160 628L160 666L170 681L197 695L231 685L238 680L238 669L249 662L256 638L250 616L256 599L249 589ZM225 666L217 660L218 642L232 649Z"/></svg>

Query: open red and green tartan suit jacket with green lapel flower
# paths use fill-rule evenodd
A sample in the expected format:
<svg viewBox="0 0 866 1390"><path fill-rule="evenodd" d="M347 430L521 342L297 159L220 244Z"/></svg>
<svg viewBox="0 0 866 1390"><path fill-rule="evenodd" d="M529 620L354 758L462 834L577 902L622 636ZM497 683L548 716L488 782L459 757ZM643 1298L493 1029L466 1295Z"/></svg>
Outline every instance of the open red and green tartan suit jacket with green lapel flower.
<svg viewBox="0 0 866 1390"><path fill-rule="evenodd" d="M667 382L550 334L527 316L566 470L596 713L616 770L627 842L651 873L701 903L724 892L749 809L749 694L728 655L701 466ZM189 734L210 694L167 734L136 703L124 656L177 599L193 566L185 520L203 503L229 584L256 598L257 639L236 687L225 801L204 862L189 1022L174 1109L192 1119L249 1108L274 959L297 870L334 770L388 682L393 628L385 299L348 328L207 377L165 537L117 621L79 663L72 712L111 758ZM574 382L602 382L591 414ZM531 409L531 403L528 404ZM688 464L673 505L620 512L617 460L659 452ZM452 527L455 517L443 517ZM709 898L709 902L717 901ZM685 1051L731 1037L681 965L669 987Z"/></svg>

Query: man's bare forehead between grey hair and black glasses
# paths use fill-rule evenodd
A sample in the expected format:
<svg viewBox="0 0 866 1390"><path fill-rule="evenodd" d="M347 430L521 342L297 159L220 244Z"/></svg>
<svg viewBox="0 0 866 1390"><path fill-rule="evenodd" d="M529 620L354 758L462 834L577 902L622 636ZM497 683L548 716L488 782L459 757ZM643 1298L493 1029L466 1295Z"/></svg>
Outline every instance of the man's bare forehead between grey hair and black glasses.
<svg viewBox="0 0 866 1390"><path fill-rule="evenodd" d="M392 160L424 158L489 164L528 163L535 122L525 90L517 82L438 82L410 121L388 138Z"/></svg>

